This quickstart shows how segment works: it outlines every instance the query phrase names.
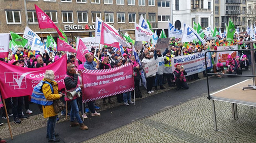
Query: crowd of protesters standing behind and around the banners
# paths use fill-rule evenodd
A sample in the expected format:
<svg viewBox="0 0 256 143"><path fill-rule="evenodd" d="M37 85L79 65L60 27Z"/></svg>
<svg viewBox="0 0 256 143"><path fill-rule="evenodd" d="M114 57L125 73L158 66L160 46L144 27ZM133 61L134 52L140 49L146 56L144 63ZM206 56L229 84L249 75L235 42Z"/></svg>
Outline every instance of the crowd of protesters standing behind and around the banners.
<svg viewBox="0 0 256 143"><path fill-rule="evenodd" d="M209 37L208 37L209 38ZM204 38L207 41L207 38ZM212 38L211 38L212 40ZM250 48L250 44L246 43L239 43L243 41L250 40L249 35L245 33L235 34L234 40L231 43L226 41L225 37L217 36L214 39L216 46L225 46L225 45L238 45L239 49L248 49ZM131 44L131 43L130 43ZM72 46L76 47L76 44L72 44ZM255 46L253 44L253 46ZM256 46L255 46L256 47ZM50 48L50 52L41 54L35 51L31 51L26 48L18 48L16 52L10 51L10 54L7 58L1 58L2 61L8 62L9 64L13 64L16 66L26 67L26 68L40 68L47 66L56 60L58 60L61 56L67 53L67 77L65 78L65 86L66 89L58 89L58 93L64 93L67 90L74 89L77 86L82 87L82 78L81 78L81 70L83 69L91 69L91 70L98 70L98 69L108 69L108 68L115 68L121 65L132 63L133 65L133 77L134 77L134 87L135 87L135 98L141 98L140 92L140 83L142 83L142 77L145 77L144 70L145 64L156 61L158 71L156 74L148 76L145 78L147 84L144 85L147 88L147 93L152 94L157 90L163 90L165 87L164 84L167 84L169 87L176 87L176 90L181 88L189 89L187 81L195 81L200 79L198 74L187 76L186 71L180 64L175 64L175 70L172 70L171 60L175 56L183 56L188 54L194 54L197 52L202 52L205 50L209 50L207 45L199 44L199 42L180 42L179 38L170 38L170 47L166 48L162 53L161 50L156 49L150 43L145 43L141 45L140 50L136 50L136 54L134 55L132 48L123 47L120 49L113 48L113 47L103 47L101 50L91 48L89 53L85 54L86 62L82 63L79 59L76 58L76 53L69 53L64 51L58 51L57 48ZM256 56L255 56L256 57ZM212 67L212 73L221 73L221 74L238 74L238 70L241 68L249 69L249 65L251 64L250 60L250 52L248 51L239 51L238 56L236 58L232 58L231 55L228 56L226 61L226 65L222 63L215 63ZM204 72L204 76L205 72ZM222 76L217 75L218 78ZM45 79L47 80L47 79ZM160 88L158 88L158 86ZM154 88L153 88L154 87ZM56 94L58 94L56 91ZM134 104L131 100L133 92L127 92L123 94L116 95L117 101L119 103L124 103L125 106L129 104ZM2 107L2 118L7 119L10 116L13 116L13 121L16 124L20 124L21 120L28 119L28 116L25 114L32 114L33 112L29 109L29 98L30 95L24 97L14 97L6 99L6 108L8 111L8 117ZM55 96L57 98L57 96ZM60 96L59 98L62 99L63 102L68 101L68 111L70 113L66 113L65 110L61 112L61 115L70 115L70 126L80 125L80 128L85 130L88 129L87 126L83 124L83 121L80 118L88 118L86 113L91 112L91 116L99 116L100 113L97 113L95 110L100 109L100 107L96 106L95 101L87 102L85 105L82 103L82 97L77 97L73 100L66 100L64 96ZM107 97L109 104L115 104L111 98ZM23 112L23 102L25 104L25 112ZM2 102L0 102L0 105ZM103 105L106 105L106 99L103 98ZM83 113L82 109L83 106L85 108L85 112ZM0 106L1 107L1 106ZM39 106L39 110L41 113L44 113L45 116L45 109L42 109L42 106ZM25 114L24 114L25 113ZM79 115L80 114L80 115ZM78 122L74 122L76 119ZM54 120L54 121L53 121ZM57 114L52 114L49 117L49 124L55 124L55 121L58 120ZM0 121L0 125L2 125ZM51 132L51 134L54 132ZM48 135L48 134L47 134ZM57 136L57 134L55 134ZM49 136L48 136L49 137ZM50 138L49 138L50 139ZM56 139L55 139L56 141ZM57 139L58 141L58 139Z"/></svg>

